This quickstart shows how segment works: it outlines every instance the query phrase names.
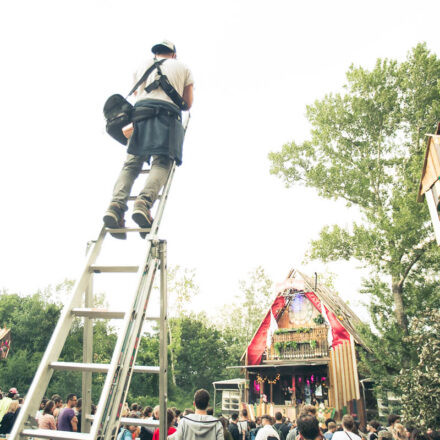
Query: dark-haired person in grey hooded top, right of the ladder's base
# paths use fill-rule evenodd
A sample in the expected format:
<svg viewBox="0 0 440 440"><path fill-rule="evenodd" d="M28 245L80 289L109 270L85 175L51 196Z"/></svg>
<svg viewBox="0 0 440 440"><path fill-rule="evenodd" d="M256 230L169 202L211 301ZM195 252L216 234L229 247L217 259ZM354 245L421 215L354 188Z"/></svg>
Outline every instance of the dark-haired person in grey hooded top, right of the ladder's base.
<svg viewBox="0 0 440 440"><path fill-rule="evenodd" d="M206 413L210 397L203 388L195 392L195 412L182 417L173 435L175 440L224 440L222 423Z"/></svg>

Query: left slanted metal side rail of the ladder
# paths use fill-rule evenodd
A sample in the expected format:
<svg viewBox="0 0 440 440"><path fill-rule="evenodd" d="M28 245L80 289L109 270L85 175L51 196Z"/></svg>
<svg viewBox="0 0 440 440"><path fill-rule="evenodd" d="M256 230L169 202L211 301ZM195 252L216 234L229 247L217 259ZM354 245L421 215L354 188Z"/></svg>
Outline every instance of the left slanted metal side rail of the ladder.
<svg viewBox="0 0 440 440"><path fill-rule="evenodd" d="M50 341L47 345L46 351L44 352L44 355L40 361L40 365L38 366L37 372L35 373L29 391L26 394L26 399L24 401L23 407L21 408L18 418L16 419L12 428L11 434L9 436L11 440L19 439L20 433L23 431L25 424L28 422L28 417L34 417L37 409L40 406L41 399L46 392L46 389L53 374L53 370L49 367L49 365L51 362L55 362L58 360L64 347L64 343L66 342L72 322L74 320L72 309L74 307L80 306L82 294L84 293L90 280L89 267L96 261L99 255L105 234L105 228L102 228L98 240L96 240L93 245L92 251L89 252L87 256L85 268L83 269L81 276L75 283L70 300L61 311L58 323L55 326Z"/></svg>

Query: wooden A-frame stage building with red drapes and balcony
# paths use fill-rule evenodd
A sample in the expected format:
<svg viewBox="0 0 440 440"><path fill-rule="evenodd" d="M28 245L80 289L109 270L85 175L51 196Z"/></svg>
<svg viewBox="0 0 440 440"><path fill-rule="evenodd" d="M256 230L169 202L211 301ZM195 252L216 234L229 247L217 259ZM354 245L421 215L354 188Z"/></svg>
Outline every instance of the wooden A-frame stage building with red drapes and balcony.
<svg viewBox="0 0 440 440"><path fill-rule="evenodd" d="M365 422L357 369L359 318L334 292L292 270L242 356L245 401L256 415L296 418L305 404L321 416L356 414ZM324 414L323 414L324 413Z"/></svg>

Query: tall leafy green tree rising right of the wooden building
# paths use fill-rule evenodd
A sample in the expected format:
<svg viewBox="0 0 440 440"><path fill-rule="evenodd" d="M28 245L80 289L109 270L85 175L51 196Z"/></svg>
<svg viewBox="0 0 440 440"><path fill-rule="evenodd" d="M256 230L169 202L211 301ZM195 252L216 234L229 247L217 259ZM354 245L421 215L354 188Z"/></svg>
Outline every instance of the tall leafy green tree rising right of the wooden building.
<svg viewBox="0 0 440 440"><path fill-rule="evenodd" d="M326 226L310 258L356 259L371 270L363 292L378 333L364 336L381 362L364 368L377 381L411 356L403 338L426 307L439 307L439 249L424 204L416 203L425 133L440 120L440 60L420 44L404 62L351 66L343 93L307 107L311 138L271 153L271 172L286 185L315 188L356 206L349 228ZM387 384L389 385L389 384Z"/></svg>

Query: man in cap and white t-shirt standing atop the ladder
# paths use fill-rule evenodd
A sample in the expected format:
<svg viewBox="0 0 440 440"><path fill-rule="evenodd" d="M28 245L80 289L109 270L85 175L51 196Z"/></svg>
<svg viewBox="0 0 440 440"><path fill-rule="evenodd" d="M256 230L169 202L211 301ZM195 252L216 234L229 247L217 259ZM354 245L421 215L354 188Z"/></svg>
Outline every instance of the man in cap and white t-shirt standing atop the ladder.
<svg viewBox="0 0 440 440"><path fill-rule="evenodd" d="M189 110L193 102L193 77L187 66L176 59L176 47L170 41L155 44L155 55L135 73L134 83L153 67L134 92L136 103L133 124L124 130L129 138L127 159L113 189L112 201L104 215L104 224L111 229L124 228L124 213L135 179L143 163L151 169L144 188L136 198L132 218L141 228L153 223L151 207L164 186L174 163L182 163L184 129L181 110ZM144 238L146 233L140 232ZM113 233L125 239L125 233Z"/></svg>

